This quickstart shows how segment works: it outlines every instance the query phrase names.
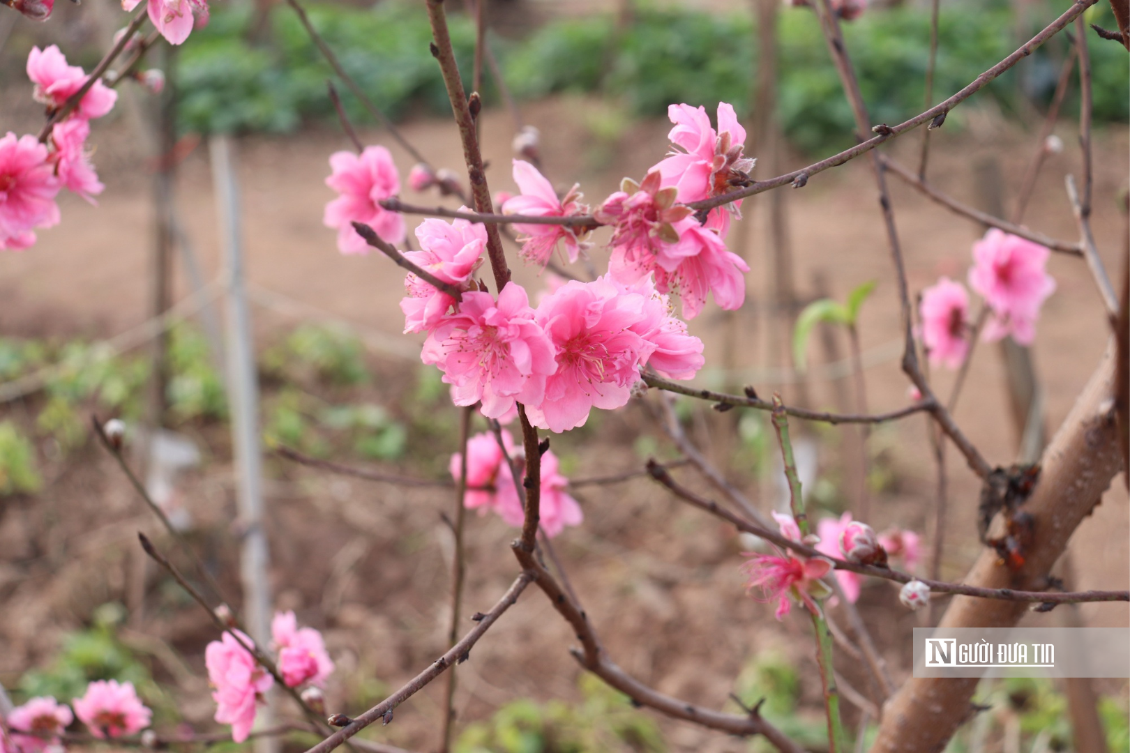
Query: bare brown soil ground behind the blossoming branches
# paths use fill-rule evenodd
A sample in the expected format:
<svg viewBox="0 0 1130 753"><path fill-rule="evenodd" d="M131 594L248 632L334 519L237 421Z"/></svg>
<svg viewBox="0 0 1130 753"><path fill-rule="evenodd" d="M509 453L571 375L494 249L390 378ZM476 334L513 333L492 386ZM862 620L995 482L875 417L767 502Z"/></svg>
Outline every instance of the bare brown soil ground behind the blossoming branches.
<svg viewBox="0 0 1130 753"><path fill-rule="evenodd" d="M601 138L592 119L608 107L607 103L562 99L530 105L525 113L542 131L547 173L562 186L580 182L592 201L614 191L621 176L642 176L663 154L669 128L663 122L634 123L616 138ZM14 120L15 115L6 114L0 125L18 128ZM1059 131L1066 143L1076 143L1072 126ZM405 132L436 165L457 168L461 164L450 123L412 122ZM511 139L507 116L487 112L484 132L485 152L493 164L488 170L492 187L513 190L506 169ZM59 227L43 231L32 251L0 256L0 332L5 335L105 336L148 316L149 178L145 166L130 155L134 135L125 120L101 124L94 138L102 143L97 159L107 185L98 207L64 198ZM385 134L371 132L363 138L389 146L407 172L410 159ZM916 132L903 138L893 145L892 152L913 161L919 138ZM1011 205L1032 152L1033 134L970 107L963 130L942 130L933 138L930 176L936 185L973 203L975 167L996 159L1007 186L1006 205ZM1124 128L1103 130L1096 133L1095 143L1095 234L1107 269L1114 271L1121 263L1116 252L1125 231L1114 195L1125 185L1130 134ZM331 198L322 183L329 172L327 158L342 148L347 148L345 139L331 131L238 142L249 278L310 307L287 312L255 308L257 334L266 342L282 327L319 317L354 323L374 344L372 365L377 382L372 396L395 406L402 395L410 394L416 368L410 348L408 358L393 352L403 353L405 342L410 342L399 335L397 303L402 275L382 257L339 255L333 234L321 225L322 207ZM805 164L797 156L785 161L790 169ZM1075 239L1078 230L1063 191L1067 173L1078 174L1078 150L1071 147L1050 158L1026 218L1035 229ZM971 242L979 229L911 193L895 178L892 185L912 288L921 290L939 274L964 277ZM405 198L418 203L435 201L410 192ZM867 400L873 411L903 405L906 382L898 370L897 351L889 347L898 338L896 289L867 165L857 161L816 176L803 190L790 190L786 201L794 278L802 295L814 291L817 272L824 273L829 292L840 298L866 280L879 281L860 325L863 350L870 353ZM218 231L205 146L183 164L177 207L210 279L219 270ZM786 399L799 400L796 386L775 384L765 371L782 362L773 342L788 340L765 306L773 286L766 207L763 198L746 205L749 229L744 253L753 268L746 309L730 318L711 308L692 323L692 331L707 342L712 369L697 382L753 382L760 394L783 389ZM736 248L742 235L740 228L734 230ZM594 252L594 262L598 268L603 265L603 251ZM1048 426L1054 429L1098 364L1109 338L1086 266L1053 255L1050 269L1059 287L1044 308L1034 354L1046 389ZM537 286L534 272L516 272L521 281ZM180 270L177 291L179 296L189 291ZM846 342L841 342L840 349L845 354ZM817 364L826 360L826 353L818 350L812 348ZM727 376L718 370L719 365L747 373ZM819 367L816 371L820 373ZM946 394L951 375L939 375L938 383ZM812 380L809 402L834 408L837 387L844 386L844 382ZM1000 353L996 347L982 347L956 418L984 455L1001 464L1012 461L1017 441L1007 404ZM0 411L20 415L23 409L9 405ZM737 414L703 410L695 421L694 437L723 466L730 465L727 458L732 455L730 437ZM559 444L555 438L555 448L570 457L576 476L617 472L640 466L632 443L641 431L655 435L666 446L647 413L633 404L602 417L599 430L575 432ZM208 446L210 462L185 489L205 524L197 543L209 557L234 564L228 443L215 429L199 436ZM434 453L446 457L454 445L452 435ZM884 427L875 432L872 445L884 448L883 462L895 480L873 500L872 523L877 528L901 524L925 529L932 515L935 470L923 420ZM822 459L833 478L835 455L828 449ZM435 458L417 459L427 463ZM407 467L414 465L418 467L415 461ZM137 597L142 566L133 532L155 532L153 522L112 463L93 446L78 462L49 464L49 469L50 483L42 494L8 501L0 508L0 595L5 604L0 614L0 645L5 646L0 682L14 682L28 666L50 656L60 636L81 625L94 606L120 599L136 607L131 634L149 636L184 654L189 672L169 676L177 678L183 691L185 716L195 724L209 724L202 647L214 636L206 618L155 593L154 572L147 576L148 596L144 601ZM730 472L758 504L770 506L764 484L754 481L747 469L730 467ZM331 683L330 707L337 708L339 699L356 698L365 677L375 676L389 689L399 686L443 646L451 542L440 514L451 508L452 494L330 478L275 462L269 464L269 474L277 602L280 607L298 610L303 621L325 630L340 667ZM692 472L681 475L710 491ZM960 577L980 551L973 535L976 496L975 476L956 453L950 453L951 514L944 562L949 578ZM734 677L751 656L776 649L801 669L806 712L818 712L811 646L807 639L790 637L807 628L797 614L779 623L768 607L744 596L737 570L740 545L732 532L659 493L645 480L588 488L579 490L577 497L585 524L563 534L557 546L589 615L620 666L662 692L734 710L727 700ZM468 537L471 564L464 611L470 613L494 603L514 576L515 564L507 551L513 532L499 520L471 517ZM1130 515L1125 487L1119 479L1071 542L1076 586L1130 586L1128 539ZM226 585L235 589L234 575L227 576ZM896 677L905 676L910 630L921 624L920 618L902 610L895 593L884 584L868 587L862 607ZM1122 604L1085 605L1081 613L1096 625L1125 625L1130 621L1130 607ZM579 669L567 653L571 640L566 625L540 594L523 596L475 648L472 660L460 667L460 718L484 718L519 697L577 698ZM859 668L849 664L844 663L849 678L866 688ZM395 723L376 730L374 737L417 750L432 748L440 699L437 683L398 709ZM662 720L661 726L672 750L746 748L741 741L692 725Z"/></svg>

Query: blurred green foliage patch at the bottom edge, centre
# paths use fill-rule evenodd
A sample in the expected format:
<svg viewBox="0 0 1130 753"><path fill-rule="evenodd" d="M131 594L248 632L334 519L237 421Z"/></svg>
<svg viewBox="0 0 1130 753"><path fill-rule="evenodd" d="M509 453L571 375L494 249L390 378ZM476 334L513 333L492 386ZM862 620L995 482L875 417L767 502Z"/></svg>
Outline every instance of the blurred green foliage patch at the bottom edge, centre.
<svg viewBox="0 0 1130 753"><path fill-rule="evenodd" d="M633 709L626 695L590 674L581 675L580 685L583 700L579 704L511 701L489 721L469 725L455 743L455 753L662 753L666 750L659 727Z"/></svg>

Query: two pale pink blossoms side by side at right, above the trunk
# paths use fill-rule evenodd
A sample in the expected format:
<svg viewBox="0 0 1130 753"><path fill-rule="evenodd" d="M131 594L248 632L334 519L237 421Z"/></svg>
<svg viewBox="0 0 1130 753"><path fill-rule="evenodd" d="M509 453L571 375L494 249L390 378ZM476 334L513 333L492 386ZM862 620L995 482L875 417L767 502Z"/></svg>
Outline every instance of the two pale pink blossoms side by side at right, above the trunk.
<svg viewBox="0 0 1130 753"><path fill-rule="evenodd" d="M1011 335L1022 345L1036 336L1040 307L1055 290L1048 273L1051 252L1037 243L990 228L973 244L970 287L981 295L990 317L982 339L994 342ZM922 343L930 362L958 368L970 349L970 297L949 278L922 291L919 307Z"/></svg>

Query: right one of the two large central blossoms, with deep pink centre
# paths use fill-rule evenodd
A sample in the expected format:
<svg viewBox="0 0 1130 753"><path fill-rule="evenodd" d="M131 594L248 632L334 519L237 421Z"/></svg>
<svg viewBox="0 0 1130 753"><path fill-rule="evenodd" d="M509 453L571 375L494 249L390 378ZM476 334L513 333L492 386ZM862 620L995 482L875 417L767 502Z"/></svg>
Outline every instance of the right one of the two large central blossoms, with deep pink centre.
<svg viewBox="0 0 1130 753"><path fill-rule="evenodd" d="M584 426L593 408L627 404L640 368L655 345L633 331L647 317L645 299L621 294L608 277L571 280L538 305L538 323L553 341L557 370L540 405L527 405L533 426L567 431Z"/></svg>

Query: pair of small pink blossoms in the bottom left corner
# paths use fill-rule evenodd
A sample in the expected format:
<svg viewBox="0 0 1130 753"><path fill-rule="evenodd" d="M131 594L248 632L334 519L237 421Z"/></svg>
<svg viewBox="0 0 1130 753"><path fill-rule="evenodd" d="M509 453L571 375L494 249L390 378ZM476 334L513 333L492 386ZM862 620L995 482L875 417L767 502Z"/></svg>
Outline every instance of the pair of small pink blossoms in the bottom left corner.
<svg viewBox="0 0 1130 753"><path fill-rule="evenodd" d="M77 716L95 737L105 739L134 735L149 726L153 712L138 699L133 683L98 680L70 707L51 697L33 698L8 715L11 753L42 753L58 748L59 736ZM2 742L2 739L0 739Z"/></svg>

